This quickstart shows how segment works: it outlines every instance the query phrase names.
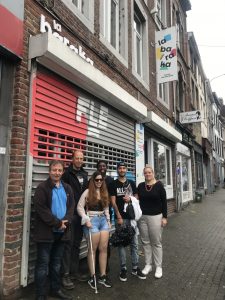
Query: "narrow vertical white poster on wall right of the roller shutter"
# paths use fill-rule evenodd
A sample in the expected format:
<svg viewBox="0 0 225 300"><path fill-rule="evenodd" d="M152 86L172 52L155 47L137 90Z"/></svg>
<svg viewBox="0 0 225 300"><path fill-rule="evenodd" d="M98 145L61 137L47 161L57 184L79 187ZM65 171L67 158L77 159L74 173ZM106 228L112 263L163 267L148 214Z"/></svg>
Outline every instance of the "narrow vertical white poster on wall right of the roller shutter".
<svg viewBox="0 0 225 300"><path fill-rule="evenodd" d="M143 124L136 124L136 184L144 181L143 169L145 165L144 155L144 126Z"/></svg>

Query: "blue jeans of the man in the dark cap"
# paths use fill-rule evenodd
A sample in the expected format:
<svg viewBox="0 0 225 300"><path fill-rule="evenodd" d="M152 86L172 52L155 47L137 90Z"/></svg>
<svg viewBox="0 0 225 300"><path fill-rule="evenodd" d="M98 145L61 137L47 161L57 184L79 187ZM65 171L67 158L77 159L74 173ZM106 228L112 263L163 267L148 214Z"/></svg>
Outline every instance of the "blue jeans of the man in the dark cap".
<svg viewBox="0 0 225 300"><path fill-rule="evenodd" d="M123 219L123 224L130 224L130 220ZM116 225L121 226L121 225ZM136 268L138 266L138 236L137 233L135 233L132 242L130 244L130 254L131 254L131 262L132 262L132 268ZM125 247L118 247L118 253L119 253L119 259L120 259L120 268L126 269L126 248Z"/></svg>

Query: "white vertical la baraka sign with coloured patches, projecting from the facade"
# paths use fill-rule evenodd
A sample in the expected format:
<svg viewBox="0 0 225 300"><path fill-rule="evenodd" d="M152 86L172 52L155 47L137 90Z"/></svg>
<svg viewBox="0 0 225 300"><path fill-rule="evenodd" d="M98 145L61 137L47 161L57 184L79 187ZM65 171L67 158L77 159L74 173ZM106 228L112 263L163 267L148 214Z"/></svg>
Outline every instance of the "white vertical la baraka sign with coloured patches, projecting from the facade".
<svg viewBox="0 0 225 300"><path fill-rule="evenodd" d="M155 33L157 83L177 80L176 28Z"/></svg>

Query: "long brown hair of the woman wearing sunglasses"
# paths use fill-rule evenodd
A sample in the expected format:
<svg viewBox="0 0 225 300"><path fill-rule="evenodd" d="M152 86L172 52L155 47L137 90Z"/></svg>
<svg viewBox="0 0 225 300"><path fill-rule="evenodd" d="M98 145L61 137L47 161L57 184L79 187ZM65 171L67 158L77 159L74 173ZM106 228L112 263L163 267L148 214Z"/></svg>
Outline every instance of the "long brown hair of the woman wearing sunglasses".
<svg viewBox="0 0 225 300"><path fill-rule="evenodd" d="M88 196L87 196L87 202L90 206L96 205L99 202L101 203L102 207L105 208L109 206L109 194L108 190L105 184L105 180L102 177L102 185L100 187L100 199L97 198L97 193L96 193L96 186L95 186L95 178L97 176L102 174L99 171L96 171L92 174L89 185L88 185Z"/></svg>

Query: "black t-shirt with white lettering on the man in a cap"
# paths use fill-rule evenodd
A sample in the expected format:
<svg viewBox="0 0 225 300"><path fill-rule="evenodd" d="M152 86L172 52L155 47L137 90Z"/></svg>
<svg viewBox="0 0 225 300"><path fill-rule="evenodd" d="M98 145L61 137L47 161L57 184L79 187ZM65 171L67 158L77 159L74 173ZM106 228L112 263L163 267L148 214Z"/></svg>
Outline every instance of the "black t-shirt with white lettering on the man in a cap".
<svg viewBox="0 0 225 300"><path fill-rule="evenodd" d="M123 197L128 194L129 196L137 194L137 188L132 180L126 180L121 182L118 179L114 180L110 187L109 193L111 196L116 196L116 205L123 219L130 219L126 212L124 212L124 200Z"/></svg>

